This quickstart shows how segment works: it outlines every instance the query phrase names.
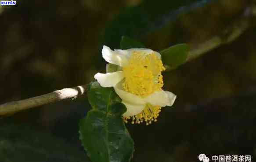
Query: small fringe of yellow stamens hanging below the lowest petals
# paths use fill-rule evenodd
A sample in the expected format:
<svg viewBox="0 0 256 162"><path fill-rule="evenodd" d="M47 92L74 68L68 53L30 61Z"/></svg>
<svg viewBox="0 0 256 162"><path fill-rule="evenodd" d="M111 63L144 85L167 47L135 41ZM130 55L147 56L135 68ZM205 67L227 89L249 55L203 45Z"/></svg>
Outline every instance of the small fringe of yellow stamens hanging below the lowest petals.
<svg viewBox="0 0 256 162"><path fill-rule="evenodd" d="M146 122L146 125L151 124L152 121L157 121L156 118L159 116L161 111L160 106L152 106L151 104L146 104L144 110L134 116L123 117L123 120L127 123L129 119L132 119L132 124Z"/></svg>

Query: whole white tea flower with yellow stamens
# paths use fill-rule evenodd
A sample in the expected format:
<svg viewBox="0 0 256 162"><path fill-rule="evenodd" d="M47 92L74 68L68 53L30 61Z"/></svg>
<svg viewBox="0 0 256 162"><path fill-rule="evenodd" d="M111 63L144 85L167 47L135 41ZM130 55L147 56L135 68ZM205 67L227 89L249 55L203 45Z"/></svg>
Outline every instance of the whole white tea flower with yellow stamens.
<svg viewBox="0 0 256 162"><path fill-rule="evenodd" d="M161 107L172 106L176 95L163 91L161 72L165 70L161 55L151 49L115 49L103 46L102 56L118 66L116 72L95 74L94 78L102 87L114 87L127 111L123 114L125 122L132 123L156 121Z"/></svg>

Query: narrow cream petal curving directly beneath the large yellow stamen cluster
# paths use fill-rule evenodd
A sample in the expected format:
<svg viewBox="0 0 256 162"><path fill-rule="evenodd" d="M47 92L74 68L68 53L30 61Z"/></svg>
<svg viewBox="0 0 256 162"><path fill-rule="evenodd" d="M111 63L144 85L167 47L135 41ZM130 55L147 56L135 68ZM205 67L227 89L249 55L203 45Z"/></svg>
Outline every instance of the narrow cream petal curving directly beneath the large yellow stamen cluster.
<svg viewBox="0 0 256 162"><path fill-rule="evenodd" d="M115 92L119 95L119 97L124 101L124 102L129 102L130 104L146 104L144 99L140 98L137 95L133 95L132 93L126 92L123 90L122 87L122 82L119 82L115 87Z"/></svg>

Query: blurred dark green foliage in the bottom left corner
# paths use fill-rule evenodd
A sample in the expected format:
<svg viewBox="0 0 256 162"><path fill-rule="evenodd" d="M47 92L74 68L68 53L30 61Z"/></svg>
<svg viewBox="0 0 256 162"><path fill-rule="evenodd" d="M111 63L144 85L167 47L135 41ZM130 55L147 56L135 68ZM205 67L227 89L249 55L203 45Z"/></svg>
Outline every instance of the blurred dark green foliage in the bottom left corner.
<svg viewBox="0 0 256 162"><path fill-rule="evenodd" d="M0 162L89 162L82 149L25 124L2 120Z"/></svg>

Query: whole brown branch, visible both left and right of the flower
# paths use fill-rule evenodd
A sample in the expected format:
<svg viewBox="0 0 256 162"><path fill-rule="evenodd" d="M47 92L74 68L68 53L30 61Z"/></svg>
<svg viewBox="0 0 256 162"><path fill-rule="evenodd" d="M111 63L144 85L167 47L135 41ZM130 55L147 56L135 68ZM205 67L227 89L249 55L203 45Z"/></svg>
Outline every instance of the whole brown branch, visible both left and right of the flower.
<svg viewBox="0 0 256 162"><path fill-rule="evenodd" d="M186 62L237 39L248 28L255 26L255 24L252 23L252 18L255 19L255 16L256 6L253 5L251 7L247 7L241 18L229 25L229 28L226 29L223 33L213 36L211 39L208 39L207 41L198 45L191 45L191 50L188 53ZM86 85L79 85L73 88L64 88L29 99L8 102L0 105L0 116L17 113L21 110L30 109L37 106L47 105L49 103L58 102L63 99L74 99L79 95L83 95L85 92Z"/></svg>

